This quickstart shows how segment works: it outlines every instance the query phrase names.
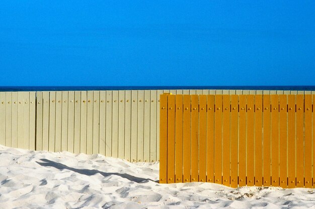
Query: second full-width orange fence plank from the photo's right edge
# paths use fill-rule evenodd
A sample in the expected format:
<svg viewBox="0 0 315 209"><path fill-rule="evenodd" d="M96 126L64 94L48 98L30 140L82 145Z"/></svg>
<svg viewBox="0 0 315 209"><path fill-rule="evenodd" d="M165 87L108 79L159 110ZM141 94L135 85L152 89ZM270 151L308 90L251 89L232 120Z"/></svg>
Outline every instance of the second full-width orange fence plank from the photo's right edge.
<svg viewBox="0 0 315 209"><path fill-rule="evenodd" d="M304 187L304 95L296 95L296 187Z"/></svg>

